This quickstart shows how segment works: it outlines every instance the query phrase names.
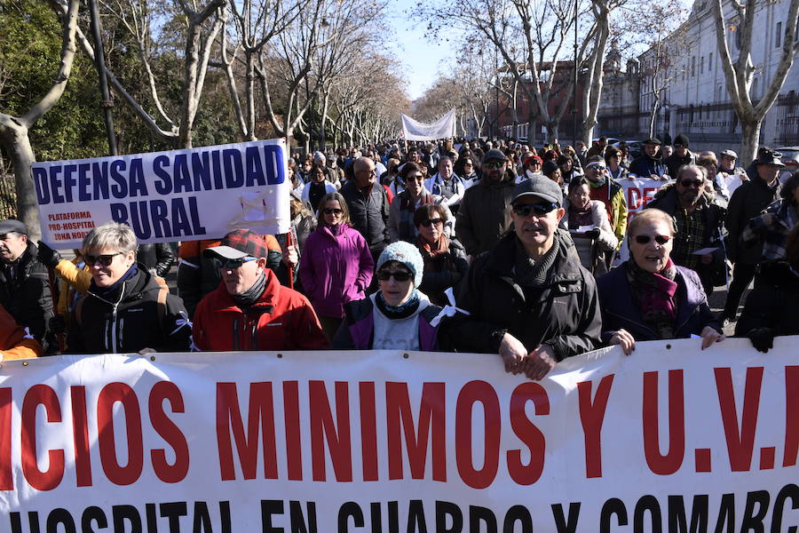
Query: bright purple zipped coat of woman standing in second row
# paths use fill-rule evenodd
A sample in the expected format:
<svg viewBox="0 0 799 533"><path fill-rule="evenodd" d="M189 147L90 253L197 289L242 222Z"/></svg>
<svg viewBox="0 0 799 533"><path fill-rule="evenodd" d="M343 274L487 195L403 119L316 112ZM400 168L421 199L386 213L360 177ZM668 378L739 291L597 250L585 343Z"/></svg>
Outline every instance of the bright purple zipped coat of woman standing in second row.
<svg viewBox="0 0 799 533"><path fill-rule="evenodd" d="M333 235L329 227L320 226L305 241L300 282L320 316L343 317L345 303L365 298L374 271L366 240L352 227Z"/></svg>

